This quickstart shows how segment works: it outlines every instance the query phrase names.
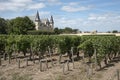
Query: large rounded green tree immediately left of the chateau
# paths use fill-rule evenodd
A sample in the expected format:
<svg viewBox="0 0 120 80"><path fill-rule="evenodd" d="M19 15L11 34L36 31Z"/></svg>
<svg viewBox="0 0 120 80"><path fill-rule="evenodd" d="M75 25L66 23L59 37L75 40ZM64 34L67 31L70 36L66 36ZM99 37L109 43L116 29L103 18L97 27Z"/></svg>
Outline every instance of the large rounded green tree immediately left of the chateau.
<svg viewBox="0 0 120 80"><path fill-rule="evenodd" d="M34 23L27 17L17 17L8 21L8 34L27 34L34 29Z"/></svg>

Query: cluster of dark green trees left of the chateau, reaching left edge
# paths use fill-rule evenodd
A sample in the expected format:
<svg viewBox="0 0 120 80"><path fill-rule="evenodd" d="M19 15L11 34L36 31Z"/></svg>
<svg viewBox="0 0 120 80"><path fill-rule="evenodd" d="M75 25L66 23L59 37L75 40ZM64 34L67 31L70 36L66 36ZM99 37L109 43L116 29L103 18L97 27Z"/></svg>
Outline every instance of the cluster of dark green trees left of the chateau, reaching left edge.
<svg viewBox="0 0 120 80"><path fill-rule="evenodd" d="M34 30L34 27L34 23L27 16L10 20L0 18L0 34L27 34L27 31Z"/></svg>

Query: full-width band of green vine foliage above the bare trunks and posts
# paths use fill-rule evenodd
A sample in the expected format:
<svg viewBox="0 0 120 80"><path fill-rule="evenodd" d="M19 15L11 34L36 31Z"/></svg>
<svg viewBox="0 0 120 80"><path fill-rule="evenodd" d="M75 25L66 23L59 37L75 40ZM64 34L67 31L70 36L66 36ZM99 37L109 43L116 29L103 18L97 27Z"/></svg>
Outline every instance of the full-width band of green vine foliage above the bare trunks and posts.
<svg viewBox="0 0 120 80"><path fill-rule="evenodd" d="M34 53L45 53L48 47L57 48L60 54L70 54L71 47L76 54L78 49L92 58L96 50L99 61L109 55L120 53L120 37L116 36L58 36L58 35L1 35L0 52L11 55L14 51L27 53L32 49Z"/></svg>

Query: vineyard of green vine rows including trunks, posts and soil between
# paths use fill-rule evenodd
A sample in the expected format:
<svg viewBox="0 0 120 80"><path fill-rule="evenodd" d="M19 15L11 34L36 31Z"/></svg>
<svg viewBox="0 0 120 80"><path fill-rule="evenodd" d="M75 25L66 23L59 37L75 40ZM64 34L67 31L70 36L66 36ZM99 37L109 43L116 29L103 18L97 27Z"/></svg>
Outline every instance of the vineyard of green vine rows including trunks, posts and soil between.
<svg viewBox="0 0 120 80"><path fill-rule="evenodd" d="M46 74L51 69L55 69L57 72L58 67L62 67L61 72L66 75L66 69L67 71L80 69L76 65L77 63L88 66L87 71L83 70L83 72L86 72L87 79L91 80L93 72L110 66L113 60L119 61L119 57L120 37L116 36L0 35L1 70L5 65L9 67L17 64L15 68L23 69L26 67L21 67L22 65L31 67L30 64L34 64L39 65L36 71ZM34 65L32 65L32 69L34 69ZM67 67L65 67L66 65ZM7 79L0 77L0 80Z"/></svg>

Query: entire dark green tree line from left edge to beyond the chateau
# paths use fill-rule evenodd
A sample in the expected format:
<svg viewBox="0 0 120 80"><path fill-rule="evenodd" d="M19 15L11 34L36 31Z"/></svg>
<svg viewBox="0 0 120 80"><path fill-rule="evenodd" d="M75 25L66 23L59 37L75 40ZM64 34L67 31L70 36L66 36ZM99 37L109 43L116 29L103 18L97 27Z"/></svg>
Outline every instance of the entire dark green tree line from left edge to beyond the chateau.
<svg viewBox="0 0 120 80"><path fill-rule="evenodd" d="M78 29L65 27L64 29L54 28L53 31L35 30L35 24L29 17L16 17L14 19L0 18L0 34L62 34L77 33Z"/></svg>

